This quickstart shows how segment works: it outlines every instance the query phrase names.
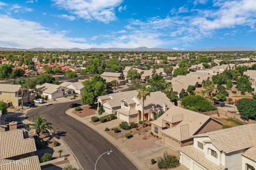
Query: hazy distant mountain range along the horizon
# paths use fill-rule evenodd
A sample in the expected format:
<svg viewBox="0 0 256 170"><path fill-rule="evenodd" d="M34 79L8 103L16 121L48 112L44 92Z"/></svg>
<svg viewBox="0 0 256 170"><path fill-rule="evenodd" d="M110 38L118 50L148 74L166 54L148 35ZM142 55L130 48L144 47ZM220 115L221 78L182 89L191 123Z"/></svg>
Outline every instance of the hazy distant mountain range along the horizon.
<svg viewBox="0 0 256 170"><path fill-rule="evenodd" d="M165 49L165 48L148 48L148 47L138 47L138 48L6 48L0 47L0 51L32 51L32 52L179 52L181 50L175 49ZM246 47L214 47L214 48L203 48L203 49L187 49L182 51L193 51L193 52L229 52L229 51L256 51L254 48Z"/></svg>

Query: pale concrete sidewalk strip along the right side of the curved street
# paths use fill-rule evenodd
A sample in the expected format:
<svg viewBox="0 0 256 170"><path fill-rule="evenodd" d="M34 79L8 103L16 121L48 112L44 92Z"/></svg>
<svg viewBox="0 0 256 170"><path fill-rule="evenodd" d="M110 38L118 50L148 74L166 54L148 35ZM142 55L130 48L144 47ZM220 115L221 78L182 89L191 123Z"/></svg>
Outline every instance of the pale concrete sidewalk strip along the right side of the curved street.
<svg viewBox="0 0 256 170"><path fill-rule="evenodd" d="M146 165L144 165L143 163L141 163L138 159L134 158L135 156L132 154L132 152L130 150L128 150L127 148L122 146L122 143L119 143L118 141L114 141L113 137L111 137L109 134L107 133L102 133L102 131L99 131L98 129L95 129L93 124L90 123L85 123L84 120L82 120L81 117L71 113L74 110L74 108L70 108L68 109L65 113L67 115L69 115L70 117L75 118L77 121L85 124L86 126L89 126L89 128L91 128L92 130L94 130L95 132L99 133L102 137L104 137L105 139L107 139L112 145L114 145L117 149L119 149L129 160L131 160L131 162L138 168L141 170L146 170L148 169L146 167Z"/></svg>

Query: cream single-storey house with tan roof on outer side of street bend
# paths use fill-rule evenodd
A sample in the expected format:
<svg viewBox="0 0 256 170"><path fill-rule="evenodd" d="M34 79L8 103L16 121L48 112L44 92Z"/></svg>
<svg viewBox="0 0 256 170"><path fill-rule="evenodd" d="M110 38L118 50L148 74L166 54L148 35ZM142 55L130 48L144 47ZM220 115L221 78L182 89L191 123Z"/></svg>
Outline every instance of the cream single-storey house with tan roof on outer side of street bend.
<svg viewBox="0 0 256 170"><path fill-rule="evenodd" d="M49 99L55 99L74 94L73 89L51 83L37 85L36 89L39 91L41 95L43 95L43 97L48 97Z"/></svg>

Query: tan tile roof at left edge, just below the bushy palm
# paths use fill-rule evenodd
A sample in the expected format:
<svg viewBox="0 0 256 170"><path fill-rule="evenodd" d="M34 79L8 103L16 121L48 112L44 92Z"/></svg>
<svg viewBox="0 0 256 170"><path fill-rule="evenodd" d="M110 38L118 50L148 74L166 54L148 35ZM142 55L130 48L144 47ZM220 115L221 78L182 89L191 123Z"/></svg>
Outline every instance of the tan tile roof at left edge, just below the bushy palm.
<svg viewBox="0 0 256 170"><path fill-rule="evenodd" d="M34 139L24 139L22 130L0 132L0 159L36 151Z"/></svg>

